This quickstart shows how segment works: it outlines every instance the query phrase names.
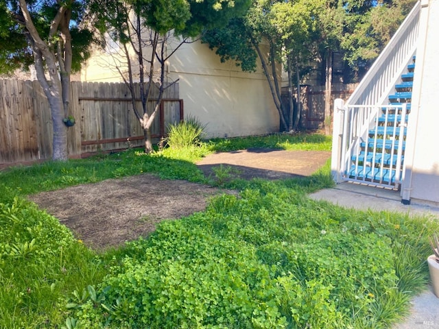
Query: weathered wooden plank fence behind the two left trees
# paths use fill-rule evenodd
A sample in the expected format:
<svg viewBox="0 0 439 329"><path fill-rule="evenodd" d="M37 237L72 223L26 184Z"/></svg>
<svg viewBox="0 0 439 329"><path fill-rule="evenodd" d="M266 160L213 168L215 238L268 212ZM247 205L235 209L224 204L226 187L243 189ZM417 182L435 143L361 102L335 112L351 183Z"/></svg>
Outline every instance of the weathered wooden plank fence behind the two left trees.
<svg viewBox="0 0 439 329"><path fill-rule="evenodd" d="M150 112L157 92L152 90ZM0 167L50 159L52 121L40 84L0 80L0 96ZM137 106L141 108L140 99ZM72 82L69 114L76 120L67 133L70 158L143 145L143 130L125 84ZM152 126L153 138L165 136L167 125L182 118L183 102L178 84L174 84L165 91L160 114Z"/></svg>

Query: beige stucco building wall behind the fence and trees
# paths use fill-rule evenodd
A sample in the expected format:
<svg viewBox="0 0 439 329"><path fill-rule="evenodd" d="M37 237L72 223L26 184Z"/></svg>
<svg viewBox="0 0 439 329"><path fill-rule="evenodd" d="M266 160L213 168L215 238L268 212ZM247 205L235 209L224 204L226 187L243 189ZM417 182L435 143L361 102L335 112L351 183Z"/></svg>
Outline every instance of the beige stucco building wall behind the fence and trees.
<svg viewBox="0 0 439 329"><path fill-rule="evenodd" d="M121 81L111 61L110 56L95 53L82 70L82 80ZM207 45L193 42L171 56L167 78L179 80L185 116L204 123L207 138L278 132L278 112L261 67L257 73L243 73L235 62L221 63Z"/></svg>

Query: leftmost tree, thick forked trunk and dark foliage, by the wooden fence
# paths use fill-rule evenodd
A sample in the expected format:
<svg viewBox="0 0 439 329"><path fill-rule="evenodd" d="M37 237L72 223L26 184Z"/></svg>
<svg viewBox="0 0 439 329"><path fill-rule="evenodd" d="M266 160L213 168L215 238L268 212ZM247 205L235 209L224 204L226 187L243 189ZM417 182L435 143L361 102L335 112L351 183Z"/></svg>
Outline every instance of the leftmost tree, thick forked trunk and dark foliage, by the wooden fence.
<svg viewBox="0 0 439 329"><path fill-rule="evenodd" d="M67 127L71 71L89 56L91 32L80 28L82 1L0 0L0 73L34 64L49 101L54 160L67 159Z"/></svg>

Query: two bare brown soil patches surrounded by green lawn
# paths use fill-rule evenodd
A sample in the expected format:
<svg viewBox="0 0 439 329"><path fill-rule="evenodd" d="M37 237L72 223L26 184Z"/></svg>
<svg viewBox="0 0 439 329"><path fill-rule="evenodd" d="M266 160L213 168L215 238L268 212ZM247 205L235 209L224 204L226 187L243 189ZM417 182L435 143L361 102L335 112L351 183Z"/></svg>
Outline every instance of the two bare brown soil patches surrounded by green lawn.
<svg viewBox="0 0 439 329"><path fill-rule="evenodd" d="M330 156L327 151L248 149L211 154L197 165L206 177L223 172L247 180L276 180L311 175ZM219 168L216 176L215 168ZM202 211L210 197L221 193L237 192L145 174L38 193L29 199L57 217L84 244L106 249L147 236L164 219Z"/></svg>

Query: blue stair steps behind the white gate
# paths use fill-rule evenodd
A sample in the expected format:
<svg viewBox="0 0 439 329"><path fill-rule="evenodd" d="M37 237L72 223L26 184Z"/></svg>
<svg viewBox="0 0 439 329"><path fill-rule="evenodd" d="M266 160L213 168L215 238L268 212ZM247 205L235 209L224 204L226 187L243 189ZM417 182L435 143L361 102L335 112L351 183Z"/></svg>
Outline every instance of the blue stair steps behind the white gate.
<svg viewBox="0 0 439 329"><path fill-rule="evenodd" d="M407 65L401 80L388 96L388 105L381 107L357 151L351 156L351 167L344 175L348 180L368 184L392 186L398 189L403 180L403 163L407 121L412 101L412 88L416 58Z"/></svg>

